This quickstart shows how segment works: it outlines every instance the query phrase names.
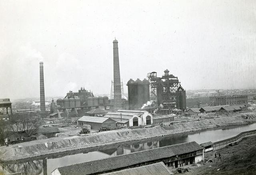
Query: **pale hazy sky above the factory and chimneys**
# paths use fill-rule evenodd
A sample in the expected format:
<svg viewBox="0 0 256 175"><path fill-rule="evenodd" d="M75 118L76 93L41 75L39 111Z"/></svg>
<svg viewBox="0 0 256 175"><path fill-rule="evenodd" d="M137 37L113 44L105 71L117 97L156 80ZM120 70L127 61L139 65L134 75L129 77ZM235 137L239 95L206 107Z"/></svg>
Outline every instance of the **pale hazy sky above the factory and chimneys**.
<svg viewBox="0 0 256 175"><path fill-rule="evenodd" d="M184 89L256 88L255 0L0 1L0 98L80 87L108 94L113 40L120 77L164 70Z"/></svg>

